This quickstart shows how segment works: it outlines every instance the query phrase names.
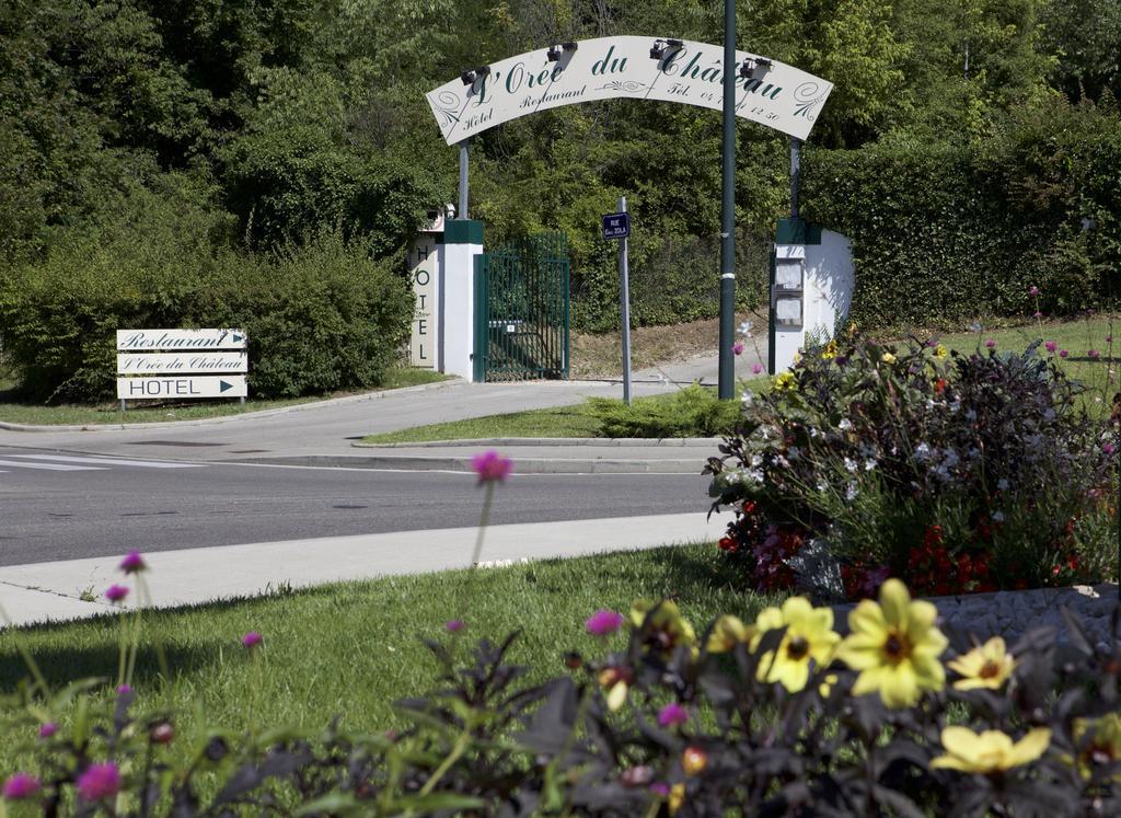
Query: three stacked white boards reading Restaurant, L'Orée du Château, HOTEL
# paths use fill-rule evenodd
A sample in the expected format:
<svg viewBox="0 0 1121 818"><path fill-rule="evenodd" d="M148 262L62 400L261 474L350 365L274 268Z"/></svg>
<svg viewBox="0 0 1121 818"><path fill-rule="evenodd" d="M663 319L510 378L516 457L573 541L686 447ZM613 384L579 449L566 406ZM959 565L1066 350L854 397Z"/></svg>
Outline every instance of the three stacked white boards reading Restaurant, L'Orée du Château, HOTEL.
<svg viewBox="0 0 1121 818"><path fill-rule="evenodd" d="M242 330L118 330L117 397L168 401L249 394Z"/></svg>

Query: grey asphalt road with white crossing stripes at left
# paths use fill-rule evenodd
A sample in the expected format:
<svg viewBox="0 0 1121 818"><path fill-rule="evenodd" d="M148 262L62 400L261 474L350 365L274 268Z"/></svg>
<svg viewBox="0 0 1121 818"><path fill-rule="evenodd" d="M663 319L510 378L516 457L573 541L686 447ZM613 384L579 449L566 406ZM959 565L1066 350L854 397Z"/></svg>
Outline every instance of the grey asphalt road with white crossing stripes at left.
<svg viewBox="0 0 1121 818"><path fill-rule="evenodd" d="M696 475L516 475L498 487L491 522L703 514L706 487ZM482 498L463 474L0 448L0 566L469 526Z"/></svg>

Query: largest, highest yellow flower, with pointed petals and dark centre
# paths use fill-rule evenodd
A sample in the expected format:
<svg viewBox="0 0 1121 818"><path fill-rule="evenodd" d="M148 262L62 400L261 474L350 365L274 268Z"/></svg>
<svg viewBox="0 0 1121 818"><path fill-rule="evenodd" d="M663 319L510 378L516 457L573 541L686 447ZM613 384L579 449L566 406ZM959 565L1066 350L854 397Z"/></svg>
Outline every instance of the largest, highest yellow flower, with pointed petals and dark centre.
<svg viewBox="0 0 1121 818"><path fill-rule="evenodd" d="M909 707L924 690L941 690L946 671L938 656L947 641L934 625L937 616L930 603L911 601L898 579L880 587L879 604L862 600L849 614L852 633L839 651L845 664L860 672L853 696L878 690L888 707Z"/></svg>

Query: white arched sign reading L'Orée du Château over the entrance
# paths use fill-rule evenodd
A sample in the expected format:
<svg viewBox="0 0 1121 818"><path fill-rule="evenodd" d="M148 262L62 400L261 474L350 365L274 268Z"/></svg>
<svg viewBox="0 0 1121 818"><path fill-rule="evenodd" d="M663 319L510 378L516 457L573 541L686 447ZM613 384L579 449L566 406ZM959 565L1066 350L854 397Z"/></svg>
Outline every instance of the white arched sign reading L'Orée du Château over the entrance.
<svg viewBox="0 0 1121 818"><path fill-rule="evenodd" d="M550 57L553 57L550 59ZM577 102L663 100L721 110L724 49L692 40L600 37L519 54L441 85L428 104L448 145L528 113ZM744 70L747 65L747 70ZM805 139L833 84L735 53L735 116Z"/></svg>

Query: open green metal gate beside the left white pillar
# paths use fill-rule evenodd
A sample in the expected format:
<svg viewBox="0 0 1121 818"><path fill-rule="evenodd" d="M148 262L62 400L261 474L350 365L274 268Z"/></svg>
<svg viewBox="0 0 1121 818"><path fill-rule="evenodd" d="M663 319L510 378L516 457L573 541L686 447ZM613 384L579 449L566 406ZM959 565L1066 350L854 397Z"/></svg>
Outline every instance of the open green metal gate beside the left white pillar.
<svg viewBox="0 0 1121 818"><path fill-rule="evenodd" d="M474 379L568 377L568 245L538 233L475 257Z"/></svg>

